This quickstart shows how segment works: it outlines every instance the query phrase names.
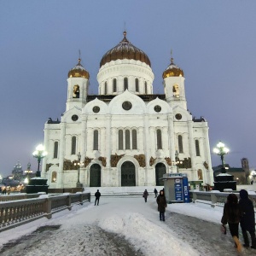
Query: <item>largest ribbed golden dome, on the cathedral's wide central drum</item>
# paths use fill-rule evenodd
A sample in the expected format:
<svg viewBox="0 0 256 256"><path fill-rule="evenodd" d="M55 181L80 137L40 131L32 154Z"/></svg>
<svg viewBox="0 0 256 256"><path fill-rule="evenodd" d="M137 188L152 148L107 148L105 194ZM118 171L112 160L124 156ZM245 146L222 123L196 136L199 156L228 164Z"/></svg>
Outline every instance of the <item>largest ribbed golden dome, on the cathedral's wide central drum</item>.
<svg viewBox="0 0 256 256"><path fill-rule="evenodd" d="M146 55L143 50L138 49L127 40L126 32L124 32L123 40L112 49L109 49L108 52L102 57L100 67L110 61L124 59L142 61L151 67L148 55Z"/></svg>

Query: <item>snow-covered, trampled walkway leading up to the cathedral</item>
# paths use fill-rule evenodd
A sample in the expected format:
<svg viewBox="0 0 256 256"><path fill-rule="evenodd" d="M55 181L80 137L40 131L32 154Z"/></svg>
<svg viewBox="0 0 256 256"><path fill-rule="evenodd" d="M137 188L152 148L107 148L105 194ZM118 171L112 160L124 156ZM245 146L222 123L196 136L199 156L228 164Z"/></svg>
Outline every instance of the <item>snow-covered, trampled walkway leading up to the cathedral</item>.
<svg viewBox="0 0 256 256"><path fill-rule="evenodd" d="M230 235L220 232L222 207L202 203L172 204L160 222L155 198L102 197L99 206L75 206L0 233L1 255L234 255ZM179 214L183 215L179 215ZM190 217L188 217L190 216ZM193 218L195 217L195 218ZM206 220L206 221L204 221ZM210 222L210 223L208 223ZM61 225L46 233L39 227ZM223 246L221 245L223 242ZM214 244L215 243L215 244ZM251 249L245 255L255 255Z"/></svg>

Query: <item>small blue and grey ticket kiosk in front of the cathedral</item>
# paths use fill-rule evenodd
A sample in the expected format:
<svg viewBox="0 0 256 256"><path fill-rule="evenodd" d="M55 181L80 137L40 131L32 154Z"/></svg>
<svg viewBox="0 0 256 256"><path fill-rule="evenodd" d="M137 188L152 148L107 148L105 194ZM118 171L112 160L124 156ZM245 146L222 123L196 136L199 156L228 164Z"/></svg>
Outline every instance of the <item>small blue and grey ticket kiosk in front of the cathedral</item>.
<svg viewBox="0 0 256 256"><path fill-rule="evenodd" d="M164 181L166 201L168 204L176 202L189 203L189 181L186 173L166 173Z"/></svg>

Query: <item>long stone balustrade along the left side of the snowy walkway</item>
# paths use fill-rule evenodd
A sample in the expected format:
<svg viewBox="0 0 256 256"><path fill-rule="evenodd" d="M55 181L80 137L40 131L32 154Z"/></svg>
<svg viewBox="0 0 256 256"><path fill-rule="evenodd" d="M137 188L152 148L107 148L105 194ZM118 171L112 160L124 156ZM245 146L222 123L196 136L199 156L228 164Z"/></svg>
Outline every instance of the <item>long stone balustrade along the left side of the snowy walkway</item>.
<svg viewBox="0 0 256 256"><path fill-rule="evenodd" d="M51 218L55 212L71 210L73 204L90 201L90 193L40 195L39 198L0 202L0 232L38 218Z"/></svg>

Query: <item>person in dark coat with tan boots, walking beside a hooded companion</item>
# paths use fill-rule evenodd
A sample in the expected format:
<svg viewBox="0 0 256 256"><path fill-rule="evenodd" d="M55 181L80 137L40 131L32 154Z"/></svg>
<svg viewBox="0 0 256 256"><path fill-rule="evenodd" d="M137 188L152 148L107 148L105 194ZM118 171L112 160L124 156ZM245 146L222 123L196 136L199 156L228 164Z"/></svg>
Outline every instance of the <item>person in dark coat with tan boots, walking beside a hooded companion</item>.
<svg viewBox="0 0 256 256"><path fill-rule="evenodd" d="M230 234L235 241L235 247L238 252L241 252L241 242L238 236L238 227L241 220L241 210L238 205L238 198L235 194L228 195L227 202L224 204L223 216L221 223L229 224Z"/></svg>

